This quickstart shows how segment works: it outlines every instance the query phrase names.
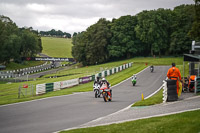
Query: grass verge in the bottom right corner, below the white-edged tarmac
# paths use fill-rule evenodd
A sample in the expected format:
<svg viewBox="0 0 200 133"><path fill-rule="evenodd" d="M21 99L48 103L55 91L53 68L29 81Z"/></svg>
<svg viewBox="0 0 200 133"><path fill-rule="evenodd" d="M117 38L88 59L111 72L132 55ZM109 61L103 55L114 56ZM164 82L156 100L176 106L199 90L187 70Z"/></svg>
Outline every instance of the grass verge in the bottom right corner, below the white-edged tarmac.
<svg viewBox="0 0 200 133"><path fill-rule="evenodd" d="M200 110L61 133L199 133Z"/></svg>

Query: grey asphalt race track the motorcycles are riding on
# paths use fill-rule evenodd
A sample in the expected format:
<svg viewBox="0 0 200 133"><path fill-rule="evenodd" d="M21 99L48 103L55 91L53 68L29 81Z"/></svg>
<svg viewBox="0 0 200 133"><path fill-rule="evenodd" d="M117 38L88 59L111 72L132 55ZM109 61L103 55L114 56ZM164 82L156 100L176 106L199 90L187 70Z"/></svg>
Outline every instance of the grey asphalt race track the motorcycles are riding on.
<svg viewBox="0 0 200 133"><path fill-rule="evenodd" d="M129 79L112 87L112 102L84 92L0 106L0 133L51 133L112 114L158 90L168 69L158 66L151 73L147 68L137 75L136 86Z"/></svg>

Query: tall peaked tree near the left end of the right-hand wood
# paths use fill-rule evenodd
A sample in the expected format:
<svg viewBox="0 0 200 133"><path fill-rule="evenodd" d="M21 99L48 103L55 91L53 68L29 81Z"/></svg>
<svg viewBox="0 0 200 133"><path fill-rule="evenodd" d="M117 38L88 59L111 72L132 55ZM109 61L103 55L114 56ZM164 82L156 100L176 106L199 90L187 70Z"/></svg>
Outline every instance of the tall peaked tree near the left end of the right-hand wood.
<svg viewBox="0 0 200 133"><path fill-rule="evenodd" d="M110 21L104 18L87 29L86 61L88 65L103 63L109 59L107 46L110 44Z"/></svg>

